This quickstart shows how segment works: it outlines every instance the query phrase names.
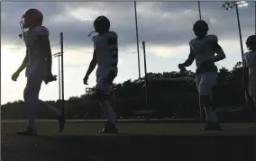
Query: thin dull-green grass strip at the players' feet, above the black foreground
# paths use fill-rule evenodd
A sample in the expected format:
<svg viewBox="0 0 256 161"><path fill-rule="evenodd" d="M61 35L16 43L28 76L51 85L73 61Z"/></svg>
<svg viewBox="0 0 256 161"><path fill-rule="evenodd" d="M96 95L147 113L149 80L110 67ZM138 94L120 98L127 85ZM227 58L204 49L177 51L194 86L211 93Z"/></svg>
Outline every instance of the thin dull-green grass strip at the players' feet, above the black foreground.
<svg viewBox="0 0 256 161"><path fill-rule="evenodd" d="M2 135L14 134L23 130L28 122L2 122ZM119 133L122 135L254 135L253 124L222 124L222 131L204 131L203 123L117 123ZM37 122L39 135L101 135L98 130L104 126L103 122L67 122L65 130L59 133L58 122Z"/></svg>

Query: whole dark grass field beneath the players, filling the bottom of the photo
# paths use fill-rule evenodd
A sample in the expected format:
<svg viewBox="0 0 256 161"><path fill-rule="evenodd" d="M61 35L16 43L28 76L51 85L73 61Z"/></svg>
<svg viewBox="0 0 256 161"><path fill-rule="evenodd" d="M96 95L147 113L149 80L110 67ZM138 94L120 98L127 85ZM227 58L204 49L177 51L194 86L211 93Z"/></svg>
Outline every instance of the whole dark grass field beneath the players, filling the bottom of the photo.
<svg viewBox="0 0 256 161"><path fill-rule="evenodd" d="M119 122L119 134L99 134L104 122L37 122L38 137L15 135L27 122L2 122L2 161L255 160L253 123L224 123L204 131L204 123Z"/></svg>

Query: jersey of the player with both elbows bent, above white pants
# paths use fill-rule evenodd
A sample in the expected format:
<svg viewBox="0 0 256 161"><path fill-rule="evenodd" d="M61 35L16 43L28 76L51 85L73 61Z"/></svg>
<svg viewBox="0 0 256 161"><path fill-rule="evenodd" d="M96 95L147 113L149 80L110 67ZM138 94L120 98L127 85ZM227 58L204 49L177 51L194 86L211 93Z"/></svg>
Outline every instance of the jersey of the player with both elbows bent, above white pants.
<svg viewBox="0 0 256 161"><path fill-rule="evenodd" d="M213 44L217 43L218 38L215 35L206 35L202 40L190 40L189 46L193 50L196 59L196 74L206 72L217 72L218 69L212 61L215 58L215 49Z"/></svg>

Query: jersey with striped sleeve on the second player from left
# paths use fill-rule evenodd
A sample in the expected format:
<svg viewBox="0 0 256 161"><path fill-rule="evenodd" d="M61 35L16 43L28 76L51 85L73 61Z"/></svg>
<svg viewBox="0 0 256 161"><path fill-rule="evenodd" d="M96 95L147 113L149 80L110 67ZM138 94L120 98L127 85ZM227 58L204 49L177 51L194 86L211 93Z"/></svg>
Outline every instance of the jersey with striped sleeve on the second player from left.
<svg viewBox="0 0 256 161"><path fill-rule="evenodd" d="M96 50L96 76L107 76L110 70L117 72L118 43L114 31L93 37Z"/></svg>

